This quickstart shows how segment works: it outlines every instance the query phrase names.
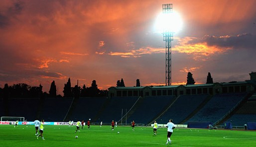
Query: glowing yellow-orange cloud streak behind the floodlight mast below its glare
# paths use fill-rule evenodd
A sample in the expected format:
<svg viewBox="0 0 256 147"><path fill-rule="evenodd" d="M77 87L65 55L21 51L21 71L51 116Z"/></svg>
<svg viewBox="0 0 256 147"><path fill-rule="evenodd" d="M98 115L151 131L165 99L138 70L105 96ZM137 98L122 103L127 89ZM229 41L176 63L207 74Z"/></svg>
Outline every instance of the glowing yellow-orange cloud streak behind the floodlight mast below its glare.
<svg viewBox="0 0 256 147"><path fill-rule="evenodd" d="M229 36L221 36L220 38L229 38ZM173 53L186 53L191 54L194 60L207 60L210 56L216 54L222 54L232 49L232 47L219 47L219 46L209 46L206 42L201 42L201 39L194 37L184 37L176 38L178 43L176 46L172 47ZM134 49L134 42L129 42L126 45L131 50L127 52L114 52L106 53L105 51L96 52L97 54L109 54L117 55L121 57L141 57L143 54L154 54L154 53L165 53L164 48L153 48L153 47L144 47L140 49Z"/></svg>

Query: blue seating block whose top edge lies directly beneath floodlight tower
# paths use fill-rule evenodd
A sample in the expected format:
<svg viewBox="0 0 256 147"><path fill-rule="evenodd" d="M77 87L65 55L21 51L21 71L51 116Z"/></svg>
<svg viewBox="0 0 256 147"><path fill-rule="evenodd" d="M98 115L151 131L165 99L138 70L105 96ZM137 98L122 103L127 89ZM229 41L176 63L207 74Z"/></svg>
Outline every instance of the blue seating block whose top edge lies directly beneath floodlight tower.
<svg viewBox="0 0 256 147"><path fill-rule="evenodd" d="M135 111L129 115L128 122L135 121L137 124L147 124L154 119L159 113L170 105L175 97L146 97L143 98L139 106L136 106Z"/></svg>

